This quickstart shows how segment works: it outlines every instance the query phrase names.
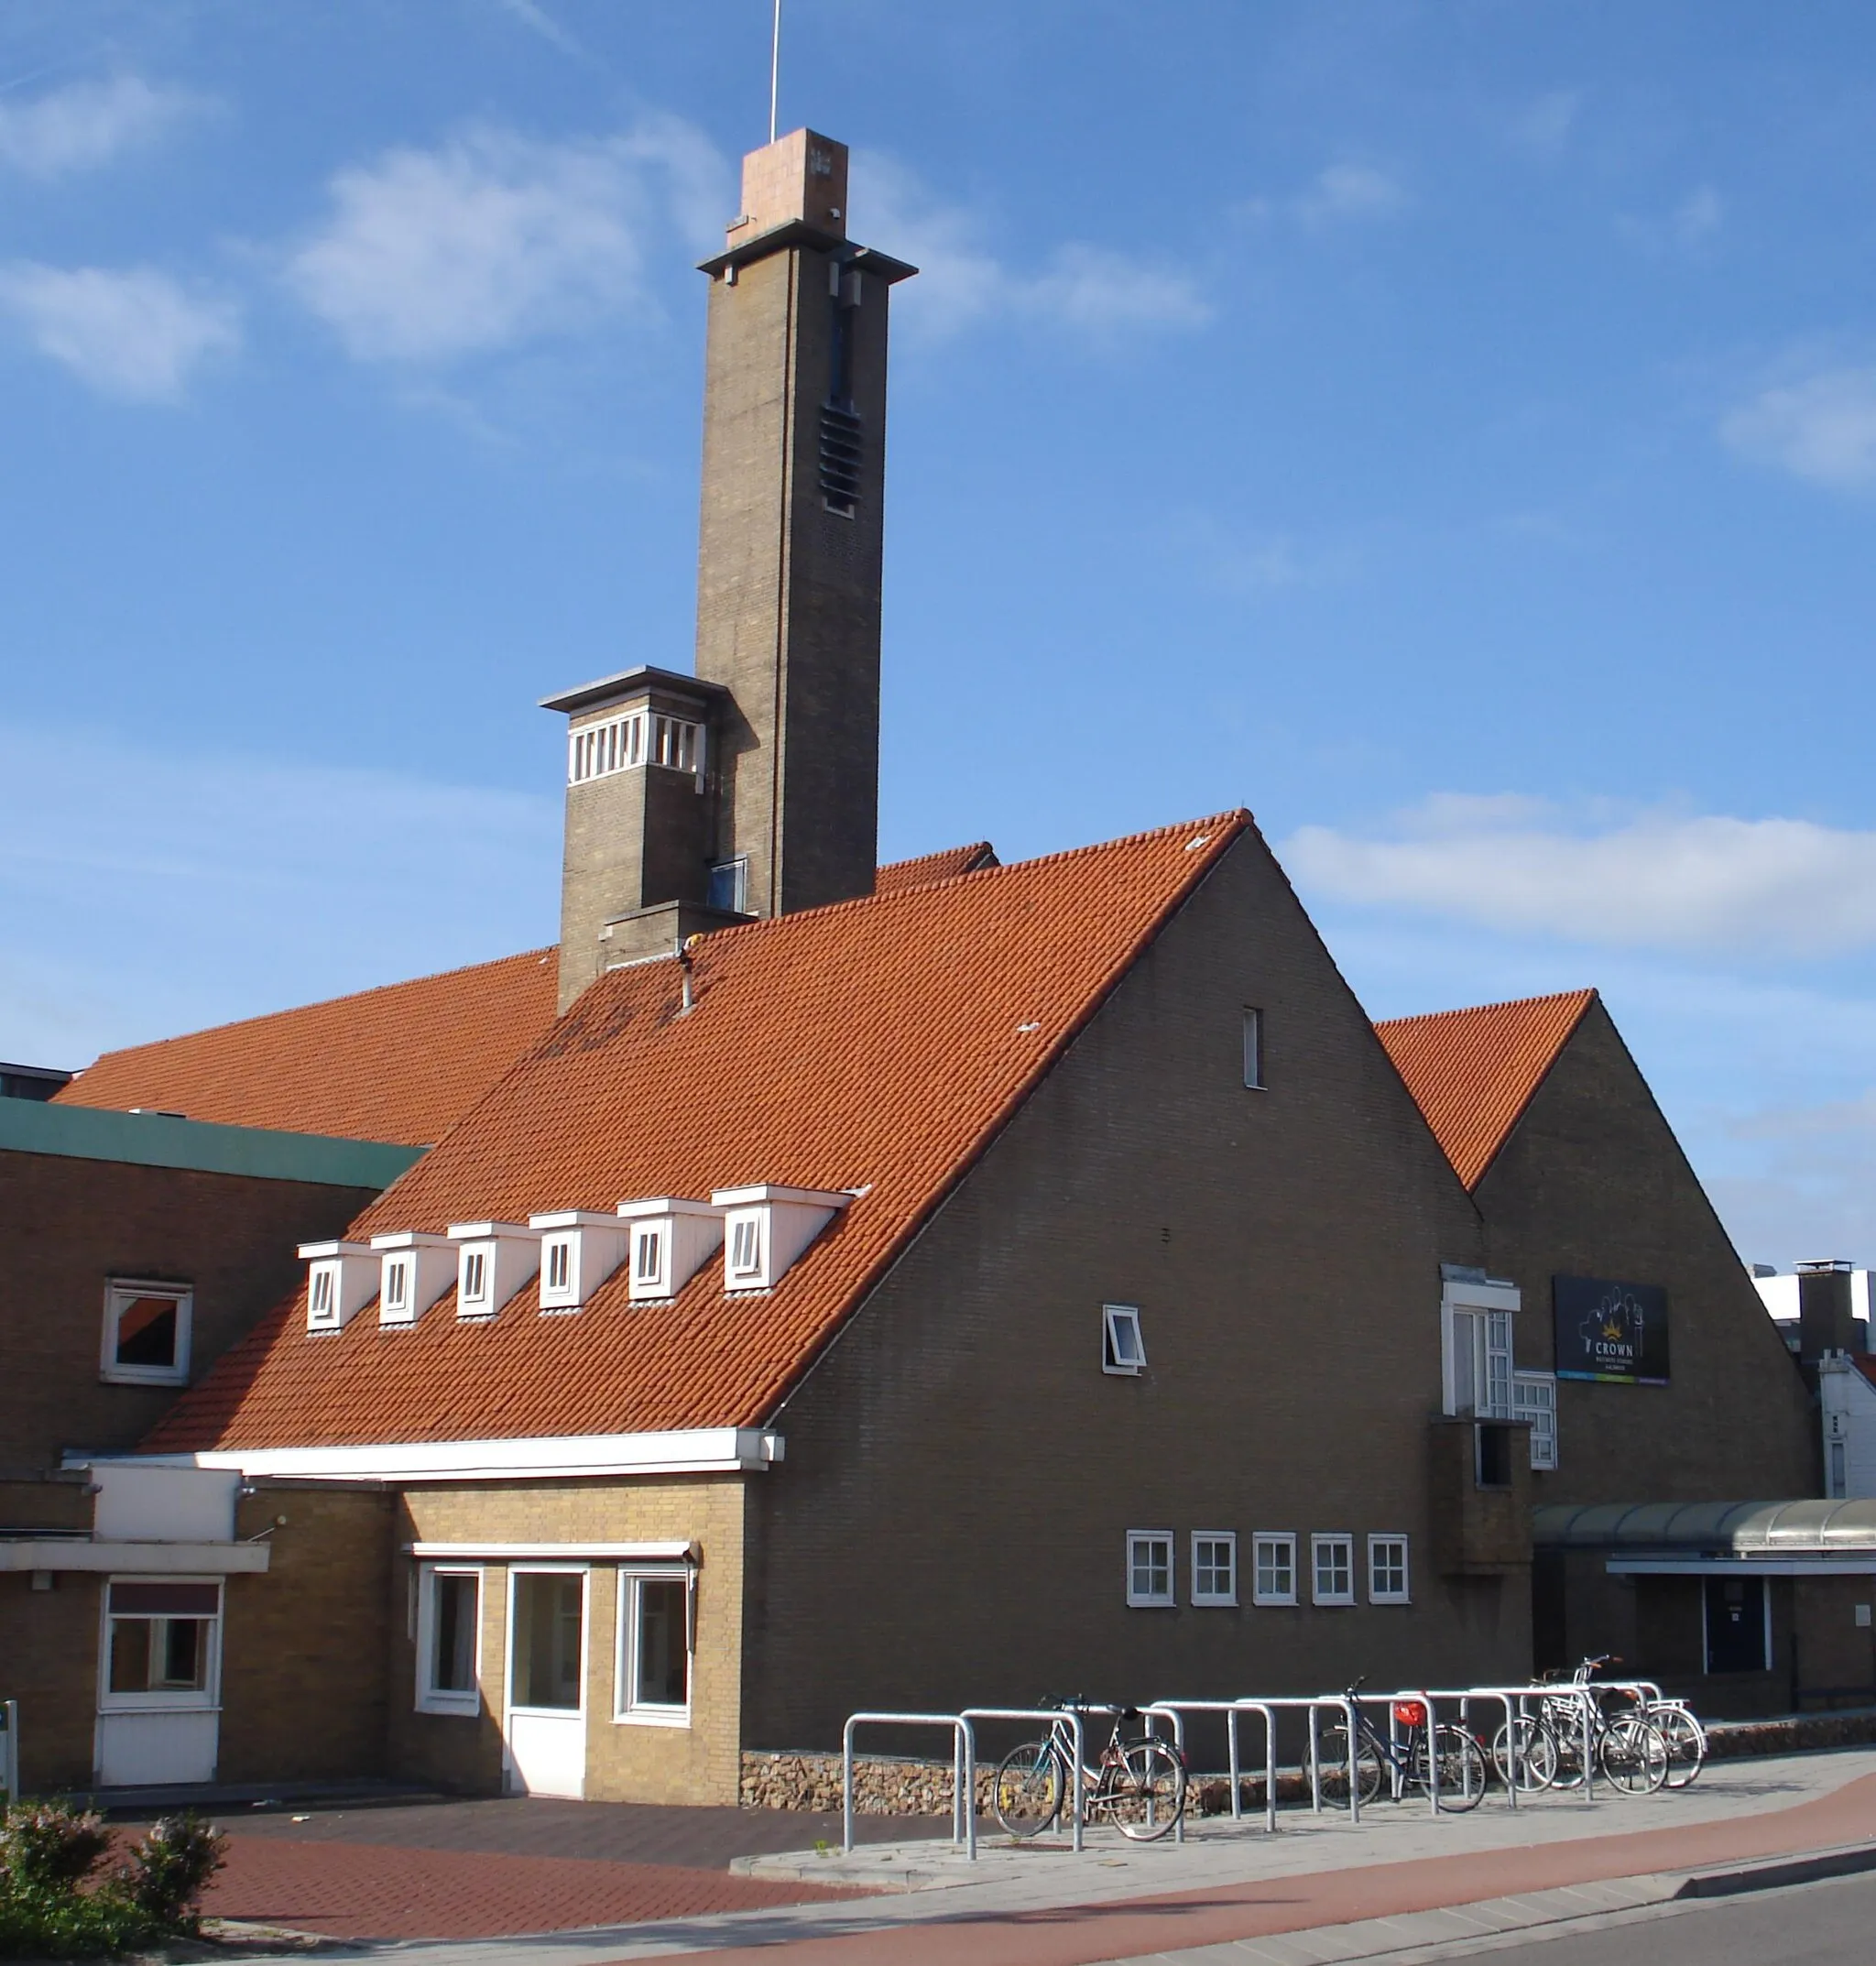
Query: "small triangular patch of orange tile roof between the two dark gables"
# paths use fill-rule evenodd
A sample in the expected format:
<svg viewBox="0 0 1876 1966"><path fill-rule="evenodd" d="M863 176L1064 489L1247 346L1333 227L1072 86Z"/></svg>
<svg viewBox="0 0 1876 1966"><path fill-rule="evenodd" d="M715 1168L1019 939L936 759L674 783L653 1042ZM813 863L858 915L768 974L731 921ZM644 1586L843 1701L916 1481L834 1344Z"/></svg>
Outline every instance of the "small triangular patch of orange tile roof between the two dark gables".
<svg viewBox="0 0 1876 1966"><path fill-rule="evenodd" d="M1467 1187L1479 1185L1595 1001L1593 989L1575 989L1375 1026Z"/></svg>

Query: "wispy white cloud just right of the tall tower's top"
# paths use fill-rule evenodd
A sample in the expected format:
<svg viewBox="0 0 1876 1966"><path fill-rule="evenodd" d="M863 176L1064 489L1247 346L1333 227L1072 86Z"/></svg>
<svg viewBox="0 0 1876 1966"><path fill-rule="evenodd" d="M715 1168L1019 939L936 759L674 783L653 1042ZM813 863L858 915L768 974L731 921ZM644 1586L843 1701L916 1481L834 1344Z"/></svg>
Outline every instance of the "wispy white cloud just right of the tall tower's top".
<svg viewBox="0 0 1876 1966"><path fill-rule="evenodd" d="M1013 271L983 244L979 214L936 199L895 157L857 155L853 195L861 202L850 232L918 267L918 279L895 301L895 318L914 334L938 338L993 320L1028 320L1113 344L1211 318L1188 273L1105 246L1070 240L1036 271Z"/></svg>

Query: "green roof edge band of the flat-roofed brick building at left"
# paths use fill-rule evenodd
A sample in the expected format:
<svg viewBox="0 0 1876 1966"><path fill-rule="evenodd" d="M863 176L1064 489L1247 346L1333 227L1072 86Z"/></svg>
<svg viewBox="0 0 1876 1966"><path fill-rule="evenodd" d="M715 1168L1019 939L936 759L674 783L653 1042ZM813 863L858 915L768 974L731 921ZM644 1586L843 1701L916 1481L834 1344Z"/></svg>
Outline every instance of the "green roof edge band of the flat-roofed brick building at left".
<svg viewBox="0 0 1876 1966"><path fill-rule="evenodd" d="M41 1099L0 1099L0 1152L381 1189L419 1160L425 1148L395 1146L389 1140L334 1140L319 1132L273 1132L267 1127L216 1127L167 1113L104 1113L96 1107L47 1105Z"/></svg>

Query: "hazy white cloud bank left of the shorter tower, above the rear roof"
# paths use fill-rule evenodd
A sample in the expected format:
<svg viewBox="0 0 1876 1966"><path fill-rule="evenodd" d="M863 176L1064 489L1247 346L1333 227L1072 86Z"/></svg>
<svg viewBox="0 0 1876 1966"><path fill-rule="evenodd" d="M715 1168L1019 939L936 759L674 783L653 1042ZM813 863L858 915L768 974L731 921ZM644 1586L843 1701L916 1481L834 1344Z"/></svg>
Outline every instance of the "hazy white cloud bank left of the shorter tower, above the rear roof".
<svg viewBox="0 0 1876 1966"><path fill-rule="evenodd" d="M555 936L558 800L0 727L0 1030L55 1066ZM98 924L140 963L100 955Z"/></svg>

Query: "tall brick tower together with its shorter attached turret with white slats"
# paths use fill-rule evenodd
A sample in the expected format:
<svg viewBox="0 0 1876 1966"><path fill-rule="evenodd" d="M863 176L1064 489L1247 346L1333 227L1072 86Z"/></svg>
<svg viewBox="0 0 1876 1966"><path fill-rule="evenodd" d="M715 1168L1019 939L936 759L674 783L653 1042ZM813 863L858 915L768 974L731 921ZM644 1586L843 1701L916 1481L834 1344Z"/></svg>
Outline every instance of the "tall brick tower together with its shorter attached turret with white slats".
<svg viewBox="0 0 1876 1966"><path fill-rule="evenodd" d="M696 676L631 668L568 718L560 1009L686 936L873 891L887 297L848 149L743 159L710 275Z"/></svg>

